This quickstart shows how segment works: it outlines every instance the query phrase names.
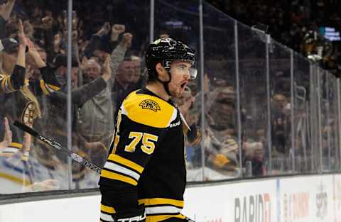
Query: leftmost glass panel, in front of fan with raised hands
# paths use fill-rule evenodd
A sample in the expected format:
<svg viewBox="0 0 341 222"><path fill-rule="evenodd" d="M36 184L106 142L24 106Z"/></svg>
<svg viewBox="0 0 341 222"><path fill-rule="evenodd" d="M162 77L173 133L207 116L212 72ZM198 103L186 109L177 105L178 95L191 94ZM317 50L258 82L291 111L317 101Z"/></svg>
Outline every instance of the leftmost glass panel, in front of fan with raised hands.
<svg viewBox="0 0 341 222"><path fill-rule="evenodd" d="M1 6L0 193L69 189L67 156L13 126L21 121L66 145L65 93L53 95L66 84L67 1Z"/></svg>

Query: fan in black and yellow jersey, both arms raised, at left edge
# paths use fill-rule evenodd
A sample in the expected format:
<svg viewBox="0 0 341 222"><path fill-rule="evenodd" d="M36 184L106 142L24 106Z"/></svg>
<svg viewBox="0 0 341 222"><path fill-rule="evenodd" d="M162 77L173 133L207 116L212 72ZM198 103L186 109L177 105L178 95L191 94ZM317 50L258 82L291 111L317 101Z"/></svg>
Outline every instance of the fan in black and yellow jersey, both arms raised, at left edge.
<svg viewBox="0 0 341 222"><path fill-rule="evenodd" d="M23 30L21 23L19 23L19 30ZM51 75L49 68L45 65L45 62L40 57L40 54L33 43L31 43L31 40L28 40L21 31L19 32L18 37L18 43L16 40L1 40L1 44L4 46L2 70L9 72L9 70L12 69L13 73L11 74L11 77L14 76L18 66L18 62L16 62L15 65L15 60L21 61L24 67L26 67L26 63L28 62L28 60L26 60L26 55L28 55L27 57L31 58L31 65L36 65L42 73L42 78L31 78L29 69L27 69L28 72L25 73L26 68L22 67L23 84L18 90L12 91L10 94L7 93L6 96L4 96L4 101L2 101L3 111L1 111L1 113L8 118L10 123L14 120L19 120L26 124L26 126L33 127L34 123L34 127L38 128L40 123L43 122L40 120L45 119L43 113L46 114L46 107L40 106L40 99L44 99L43 97L45 94L49 95L53 91L58 91L60 88L57 79L54 78L54 75ZM24 45L22 45L21 40L24 40ZM28 50L27 54L25 54L26 50ZM9 53L11 55L9 55ZM13 84L12 81L11 83ZM45 128L43 129L45 131ZM32 167L31 160L29 160L31 145L26 146L26 148L25 145L23 145L27 135L25 136L23 132L17 128L12 128L11 131L13 132L13 138L6 150L6 155L12 157L18 156L16 155L18 153L22 153L22 156L19 159L24 162L24 165ZM31 137L31 135L28 135L28 137ZM3 154L4 152L2 152L0 156ZM33 178L30 179L32 181Z"/></svg>

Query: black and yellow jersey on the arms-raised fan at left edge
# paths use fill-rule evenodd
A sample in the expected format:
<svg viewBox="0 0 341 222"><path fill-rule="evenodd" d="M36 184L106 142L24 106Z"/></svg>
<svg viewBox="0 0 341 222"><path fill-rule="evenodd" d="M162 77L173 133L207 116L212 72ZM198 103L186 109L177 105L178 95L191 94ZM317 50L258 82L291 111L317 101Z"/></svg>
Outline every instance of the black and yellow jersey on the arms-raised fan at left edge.
<svg viewBox="0 0 341 222"><path fill-rule="evenodd" d="M41 79L25 79L25 68L16 65L11 75L0 74L0 93L5 93L1 97L1 114L9 118L10 123L20 120L32 127L33 121L37 117L37 109L35 109L36 106L32 99L38 99L38 103L40 97L50 96L54 91L60 90L60 83L53 74L52 68L42 67L40 73ZM24 86L27 87L27 90ZM30 94L32 96L29 96ZM44 109L44 106L40 106L40 108ZM1 128L0 135L4 135L3 131L4 129ZM11 157L23 146L23 131L15 127L11 127L11 131L13 133L12 143L9 148L0 152L0 157ZM29 152L23 153L22 159L27 161L28 154Z"/></svg>

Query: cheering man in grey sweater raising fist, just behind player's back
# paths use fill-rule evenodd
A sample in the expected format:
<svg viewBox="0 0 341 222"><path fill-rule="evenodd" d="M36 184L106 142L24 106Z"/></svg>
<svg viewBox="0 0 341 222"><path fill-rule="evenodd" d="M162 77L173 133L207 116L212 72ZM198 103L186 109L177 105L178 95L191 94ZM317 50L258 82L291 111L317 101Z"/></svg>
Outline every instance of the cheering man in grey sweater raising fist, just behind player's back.
<svg viewBox="0 0 341 222"><path fill-rule="evenodd" d="M99 64L94 60L88 60L85 65L85 83L93 81L93 79L99 77L102 73L111 73L111 76L106 81L107 87L80 108L77 132L88 143L100 142L104 144L105 148L109 147L112 133L114 133L114 125L108 124L114 122L114 110L110 89L114 85L119 64L122 62L126 49L131 43L131 38L132 35L130 33L124 33L121 43L117 45L117 48L113 50L112 55L109 57L108 62L110 62L110 67L106 65L102 71ZM92 160L97 159L95 162L98 165L102 165L103 158L106 157L106 150L102 150L101 152L99 150L92 151L95 152L90 155L93 158Z"/></svg>

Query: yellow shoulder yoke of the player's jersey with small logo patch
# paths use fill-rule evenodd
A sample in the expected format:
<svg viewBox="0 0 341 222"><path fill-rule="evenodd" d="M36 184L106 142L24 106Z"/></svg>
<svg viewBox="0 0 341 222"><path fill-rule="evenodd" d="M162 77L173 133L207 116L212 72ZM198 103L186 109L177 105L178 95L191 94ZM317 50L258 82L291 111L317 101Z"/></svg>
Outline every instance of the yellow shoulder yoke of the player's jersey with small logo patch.
<svg viewBox="0 0 341 222"><path fill-rule="evenodd" d="M151 95L129 94L121 106L122 114L136 123L155 128L166 128L176 114L176 109L166 101Z"/></svg>

